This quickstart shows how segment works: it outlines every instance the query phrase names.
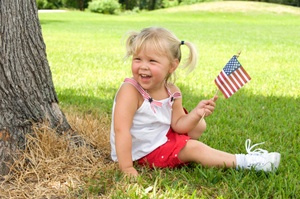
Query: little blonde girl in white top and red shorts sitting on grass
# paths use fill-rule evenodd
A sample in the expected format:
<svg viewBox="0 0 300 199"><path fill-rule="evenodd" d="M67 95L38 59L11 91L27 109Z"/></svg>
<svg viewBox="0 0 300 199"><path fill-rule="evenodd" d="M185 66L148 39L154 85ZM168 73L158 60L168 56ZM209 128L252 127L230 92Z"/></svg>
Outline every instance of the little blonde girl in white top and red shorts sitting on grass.
<svg viewBox="0 0 300 199"><path fill-rule="evenodd" d="M197 63L194 45L164 28L131 32L126 41L132 77L124 80L116 94L110 136L111 157L121 171L137 176L134 161L160 168L196 162L208 167L277 169L280 154L251 151L258 144L250 147L250 140L246 141L248 154L226 153L198 141L206 129L203 117L212 114L217 96L200 101L190 113L185 111L180 89L171 83L183 45L189 49L183 67L191 71Z"/></svg>

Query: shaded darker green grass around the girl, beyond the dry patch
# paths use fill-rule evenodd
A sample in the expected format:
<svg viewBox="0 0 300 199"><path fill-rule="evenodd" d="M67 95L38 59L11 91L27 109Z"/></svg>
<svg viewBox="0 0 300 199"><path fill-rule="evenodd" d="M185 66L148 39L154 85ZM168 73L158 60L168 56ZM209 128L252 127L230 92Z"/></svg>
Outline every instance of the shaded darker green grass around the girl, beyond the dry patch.
<svg viewBox="0 0 300 199"><path fill-rule="evenodd" d="M178 85L183 93L184 106L190 111L201 99L206 99L204 95L196 95L185 85ZM65 89L58 93L60 103L63 106L75 107L86 113L107 113L111 114L111 107L117 88L97 88L101 96L84 96L80 89ZM99 92L99 90L101 92ZM210 97L209 97L210 98ZM181 186L182 181L187 181L189 187L200 188L197 195L201 196L201 189L207 191L209 196L216 190L220 190L215 196L225 195L242 196L249 194L244 191L245 187L251 187L253 181L256 183L256 190L250 193L257 193L266 197L282 196L294 197L299 190L298 171L300 170L300 101L298 98L251 95L246 90L241 89L229 99L225 99L219 93L217 108L214 114L206 118L207 130L201 137L201 141L209 146L231 153L246 153L244 142L247 138L252 139L253 144L266 141L262 146L269 151L281 153L281 164L275 175L261 177L253 175L251 171L238 172L233 170L216 170L200 168L195 165L175 169L173 174L169 170L159 170L159 172L141 173L149 184L154 183L153 179L160 179L160 175L168 175L166 179L174 181L171 177L177 176L179 184L167 183L168 186ZM143 169L142 169L143 170ZM198 172L198 173L197 173ZM113 175L113 174L111 174ZM198 180L195 180L195 176ZM245 177L246 176L246 177ZM111 176L110 176L111 177ZM152 182L153 181L153 182ZM223 186L216 189L215 186ZM267 187L268 190L265 192ZM112 185L113 186L113 185ZM165 189L163 183L161 189ZM227 188L230 187L228 190ZM107 187L104 192L110 193L114 187ZM247 189L245 189L247 190ZM188 190L190 192L191 190ZM189 193L187 193L189 194ZM125 194L126 195L126 194ZM251 194L250 194L251 195ZM249 195L248 195L249 196Z"/></svg>

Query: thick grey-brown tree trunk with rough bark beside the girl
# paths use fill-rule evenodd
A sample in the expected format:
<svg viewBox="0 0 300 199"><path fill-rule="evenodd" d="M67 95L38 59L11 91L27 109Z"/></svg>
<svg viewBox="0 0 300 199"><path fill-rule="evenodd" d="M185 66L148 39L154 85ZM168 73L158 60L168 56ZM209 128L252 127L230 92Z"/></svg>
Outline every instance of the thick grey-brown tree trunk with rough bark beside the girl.
<svg viewBox="0 0 300 199"><path fill-rule="evenodd" d="M36 0L0 0L0 175L33 123L70 129L52 82Z"/></svg>

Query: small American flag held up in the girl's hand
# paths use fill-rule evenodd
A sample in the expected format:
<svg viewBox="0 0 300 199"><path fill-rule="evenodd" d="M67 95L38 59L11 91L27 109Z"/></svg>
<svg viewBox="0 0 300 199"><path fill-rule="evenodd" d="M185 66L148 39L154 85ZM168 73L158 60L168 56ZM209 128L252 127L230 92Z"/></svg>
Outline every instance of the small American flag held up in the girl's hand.
<svg viewBox="0 0 300 199"><path fill-rule="evenodd" d="M250 80L251 77L234 55L217 76L215 83L225 98L229 98Z"/></svg>

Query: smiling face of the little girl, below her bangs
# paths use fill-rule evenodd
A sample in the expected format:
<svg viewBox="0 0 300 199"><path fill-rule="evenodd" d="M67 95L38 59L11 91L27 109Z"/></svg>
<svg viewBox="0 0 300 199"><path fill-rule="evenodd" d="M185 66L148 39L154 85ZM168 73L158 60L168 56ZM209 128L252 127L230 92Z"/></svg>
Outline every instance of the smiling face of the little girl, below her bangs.
<svg viewBox="0 0 300 199"><path fill-rule="evenodd" d="M176 67L166 55L158 54L154 49L141 50L132 56L133 77L148 91L164 89L166 76Z"/></svg>

